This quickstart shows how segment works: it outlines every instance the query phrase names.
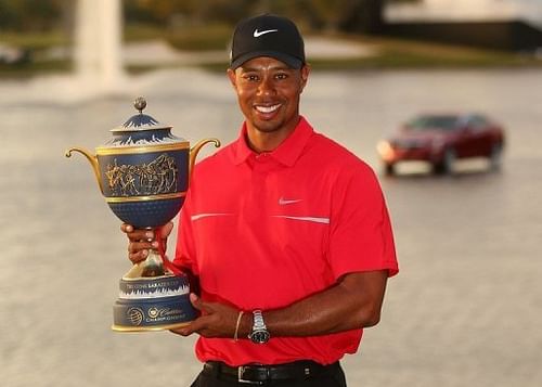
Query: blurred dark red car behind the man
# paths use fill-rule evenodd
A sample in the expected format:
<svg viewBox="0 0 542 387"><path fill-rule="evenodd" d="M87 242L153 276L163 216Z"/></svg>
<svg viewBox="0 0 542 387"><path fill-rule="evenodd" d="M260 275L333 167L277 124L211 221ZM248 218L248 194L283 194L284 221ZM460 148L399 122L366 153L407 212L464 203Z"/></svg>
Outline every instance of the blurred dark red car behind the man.
<svg viewBox="0 0 542 387"><path fill-rule="evenodd" d="M378 143L385 172L408 160L428 162L436 173L453 171L455 159L486 157L498 168L504 146L503 128L480 114L429 114L406 122Z"/></svg>

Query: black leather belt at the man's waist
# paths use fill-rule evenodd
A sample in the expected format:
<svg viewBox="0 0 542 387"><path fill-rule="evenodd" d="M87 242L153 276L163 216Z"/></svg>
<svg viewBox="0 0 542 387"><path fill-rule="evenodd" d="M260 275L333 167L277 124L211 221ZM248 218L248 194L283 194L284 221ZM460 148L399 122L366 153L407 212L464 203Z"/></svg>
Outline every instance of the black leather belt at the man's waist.
<svg viewBox="0 0 542 387"><path fill-rule="evenodd" d="M330 371L339 369L339 363L322 365L311 360L300 360L285 364L248 364L240 366L229 366L219 361L208 361L204 364L204 372L216 375L217 377L227 377L236 379L238 383L248 383L262 385L269 380L286 379L308 379Z"/></svg>

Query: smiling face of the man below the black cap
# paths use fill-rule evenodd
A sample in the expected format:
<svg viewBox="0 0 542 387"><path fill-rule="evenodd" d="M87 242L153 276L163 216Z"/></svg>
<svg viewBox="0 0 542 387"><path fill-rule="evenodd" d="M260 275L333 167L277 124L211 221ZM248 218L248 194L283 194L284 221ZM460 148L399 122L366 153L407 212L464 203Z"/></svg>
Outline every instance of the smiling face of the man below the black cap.
<svg viewBox="0 0 542 387"><path fill-rule="evenodd" d="M264 133L294 130L299 120L299 96L309 77L309 67L289 68L273 57L245 62L228 76L237 93L248 130Z"/></svg>

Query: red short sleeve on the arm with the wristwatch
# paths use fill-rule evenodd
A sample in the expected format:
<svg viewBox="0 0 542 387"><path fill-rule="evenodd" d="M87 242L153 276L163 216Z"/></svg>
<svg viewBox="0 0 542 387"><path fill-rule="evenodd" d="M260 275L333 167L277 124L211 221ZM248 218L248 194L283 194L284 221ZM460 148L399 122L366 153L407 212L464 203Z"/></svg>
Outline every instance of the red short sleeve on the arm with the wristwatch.
<svg viewBox="0 0 542 387"><path fill-rule="evenodd" d="M374 171L341 171L332 201L328 259L336 279L350 272L399 271L391 222Z"/></svg>

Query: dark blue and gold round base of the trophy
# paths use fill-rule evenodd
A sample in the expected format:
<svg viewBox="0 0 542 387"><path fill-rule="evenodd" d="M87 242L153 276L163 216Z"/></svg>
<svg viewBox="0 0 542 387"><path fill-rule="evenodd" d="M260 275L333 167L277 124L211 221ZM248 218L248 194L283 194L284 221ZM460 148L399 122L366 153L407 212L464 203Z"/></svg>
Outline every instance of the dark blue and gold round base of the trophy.
<svg viewBox="0 0 542 387"><path fill-rule="evenodd" d="M117 332L163 331L189 324L196 318L185 275L122 278L113 307Z"/></svg>

